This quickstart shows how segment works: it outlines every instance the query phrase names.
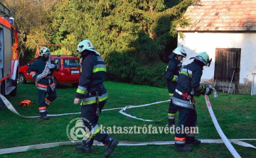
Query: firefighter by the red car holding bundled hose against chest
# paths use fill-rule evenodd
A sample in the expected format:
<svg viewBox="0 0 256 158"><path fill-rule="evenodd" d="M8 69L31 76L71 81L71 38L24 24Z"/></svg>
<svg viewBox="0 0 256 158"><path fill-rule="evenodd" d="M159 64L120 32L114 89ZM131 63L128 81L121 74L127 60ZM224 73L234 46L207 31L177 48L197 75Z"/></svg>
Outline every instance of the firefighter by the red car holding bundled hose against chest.
<svg viewBox="0 0 256 158"><path fill-rule="evenodd" d="M41 47L40 56L28 67L28 74L36 79L38 109L43 120L49 119L47 116L47 107L57 98L53 72L60 69L53 60L50 60L49 55L50 50L47 47ZM47 97L46 94L48 94Z"/></svg>

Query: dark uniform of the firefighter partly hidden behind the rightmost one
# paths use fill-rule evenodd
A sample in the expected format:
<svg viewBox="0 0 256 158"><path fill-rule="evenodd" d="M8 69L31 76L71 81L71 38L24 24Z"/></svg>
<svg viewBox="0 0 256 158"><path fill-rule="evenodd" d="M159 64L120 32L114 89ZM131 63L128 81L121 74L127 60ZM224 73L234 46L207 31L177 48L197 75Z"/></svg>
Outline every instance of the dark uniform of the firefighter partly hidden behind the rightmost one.
<svg viewBox="0 0 256 158"><path fill-rule="evenodd" d="M174 52L173 52L174 53ZM174 58L169 60L168 66L166 68L166 83L169 91L169 96L172 98L174 96L174 91L177 86L178 81L178 74L182 67L182 63ZM169 111L168 111L168 122L169 127L175 124L175 114L177 112L177 108L171 103L169 104Z"/></svg>

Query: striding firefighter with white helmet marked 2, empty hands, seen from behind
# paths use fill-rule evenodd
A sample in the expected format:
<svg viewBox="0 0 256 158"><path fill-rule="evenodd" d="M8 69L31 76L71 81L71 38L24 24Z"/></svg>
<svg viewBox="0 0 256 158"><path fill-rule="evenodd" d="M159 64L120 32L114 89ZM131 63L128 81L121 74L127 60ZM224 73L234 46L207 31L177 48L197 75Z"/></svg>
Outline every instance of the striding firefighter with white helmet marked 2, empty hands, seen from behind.
<svg viewBox="0 0 256 158"><path fill-rule="evenodd" d="M91 146L95 139L107 147L105 157L109 157L119 142L97 124L102 108L107 102L107 89L103 84L106 73L105 62L90 40L82 40L78 44L77 51L82 56L82 72L74 103L78 104L81 100L82 121L90 132L85 132L82 145L77 146L76 149L87 153L92 152Z"/></svg>

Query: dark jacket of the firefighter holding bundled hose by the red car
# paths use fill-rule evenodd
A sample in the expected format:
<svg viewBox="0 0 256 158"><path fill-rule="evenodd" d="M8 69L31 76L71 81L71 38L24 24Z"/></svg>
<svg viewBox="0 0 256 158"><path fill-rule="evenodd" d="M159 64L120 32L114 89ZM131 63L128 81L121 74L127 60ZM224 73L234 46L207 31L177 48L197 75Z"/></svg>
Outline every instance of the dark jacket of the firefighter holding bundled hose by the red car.
<svg viewBox="0 0 256 158"><path fill-rule="evenodd" d="M29 67L28 67L28 74L31 75L34 79L38 77L39 74L43 73L43 70L46 68L46 63L55 64L53 60L46 61L43 59L44 57L38 57ZM53 72L58 71L60 67L58 64L55 64L55 69L49 69L48 75L43 77L43 79L36 82L36 88L38 91L45 91L48 92L49 89L55 89L55 83L53 81Z"/></svg>

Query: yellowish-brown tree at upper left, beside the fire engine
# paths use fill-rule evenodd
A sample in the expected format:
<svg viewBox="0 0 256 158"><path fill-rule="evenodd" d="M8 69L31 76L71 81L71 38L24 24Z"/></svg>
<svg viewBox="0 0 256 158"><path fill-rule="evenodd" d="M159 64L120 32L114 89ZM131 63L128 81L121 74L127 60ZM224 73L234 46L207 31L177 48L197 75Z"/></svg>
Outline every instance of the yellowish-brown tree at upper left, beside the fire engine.
<svg viewBox="0 0 256 158"><path fill-rule="evenodd" d="M36 50L37 43L50 43L53 39L52 21L58 0L4 0L2 3L14 16L14 25L27 34L27 41L19 41L21 56L28 50Z"/></svg>

